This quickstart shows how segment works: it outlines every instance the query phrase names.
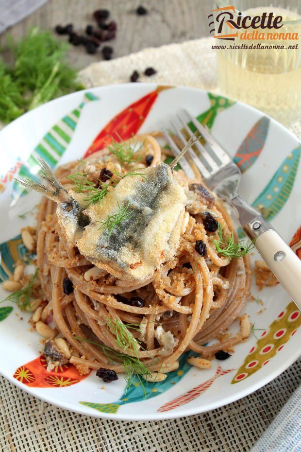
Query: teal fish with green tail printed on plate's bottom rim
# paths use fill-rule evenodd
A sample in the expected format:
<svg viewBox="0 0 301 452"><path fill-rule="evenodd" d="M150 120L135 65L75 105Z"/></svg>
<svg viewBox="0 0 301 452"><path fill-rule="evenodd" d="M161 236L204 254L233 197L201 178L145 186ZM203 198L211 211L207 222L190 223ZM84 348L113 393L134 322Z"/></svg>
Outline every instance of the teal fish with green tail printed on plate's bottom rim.
<svg viewBox="0 0 301 452"><path fill-rule="evenodd" d="M133 384L122 394L119 400L113 403L97 403L97 402L80 402L82 405L94 408L102 413L117 413L120 406L127 403L139 402L141 400L152 399L166 392L174 384L180 382L184 375L191 369L191 365L187 363L189 356L197 356L195 352L185 352L179 359L179 368L173 372L167 373L167 378L163 382L146 383L145 395L142 391L141 384L135 377Z"/></svg>

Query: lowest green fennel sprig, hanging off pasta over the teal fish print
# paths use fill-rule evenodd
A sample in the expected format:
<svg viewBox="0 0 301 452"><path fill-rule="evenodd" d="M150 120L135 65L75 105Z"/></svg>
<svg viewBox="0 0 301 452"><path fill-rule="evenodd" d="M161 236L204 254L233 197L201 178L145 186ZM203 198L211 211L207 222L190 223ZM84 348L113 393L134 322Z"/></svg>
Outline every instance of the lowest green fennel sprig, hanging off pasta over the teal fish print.
<svg viewBox="0 0 301 452"><path fill-rule="evenodd" d="M143 382L143 376L151 376L151 371L146 367L142 361L140 361L139 358L136 356L130 356L130 355L124 355L123 353L119 353L113 348L107 347L105 345L100 344L99 342L91 341L89 339L84 339L79 336L74 336L75 339L79 341L89 342L90 344L93 344L103 351L104 355L113 362L121 362L124 365L124 372L125 372L125 381L127 383L126 390L133 384L134 377L136 376L141 384L142 390L144 394L145 392L145 386Z"/></svg>

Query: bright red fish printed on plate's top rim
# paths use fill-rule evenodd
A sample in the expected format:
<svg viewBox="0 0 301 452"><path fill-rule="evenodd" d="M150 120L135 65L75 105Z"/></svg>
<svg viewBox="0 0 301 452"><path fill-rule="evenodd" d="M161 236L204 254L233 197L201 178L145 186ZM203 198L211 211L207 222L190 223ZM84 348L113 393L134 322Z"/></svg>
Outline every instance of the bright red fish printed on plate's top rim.
<svg viewBox="0 0 301 452"><path fill-rule="evenodd" d="M100 151L108 146L112 142L112 139L119 142L136 135L160 92L169 88L172 87L158 86L154 91L151 91L146 96L143 96L120 111L100 131L85 152L84 157L90 156L94 152Z"/></svg>

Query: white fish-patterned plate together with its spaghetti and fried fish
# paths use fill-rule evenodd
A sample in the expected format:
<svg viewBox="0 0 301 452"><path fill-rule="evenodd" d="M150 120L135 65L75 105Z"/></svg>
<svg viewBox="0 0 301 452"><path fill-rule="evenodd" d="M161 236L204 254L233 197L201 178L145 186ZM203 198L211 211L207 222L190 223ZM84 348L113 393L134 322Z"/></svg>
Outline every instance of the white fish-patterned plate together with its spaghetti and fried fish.
<svg viewBox="0 0 301 452"><path fill-rule="evenodd" d="M39 399L96 417L188 416L300 355L298 308L231 208L174 162L161 131L183 107L301 258L301 144L260 111L143 83L36 108L0 132L0 374Z"/></svg>

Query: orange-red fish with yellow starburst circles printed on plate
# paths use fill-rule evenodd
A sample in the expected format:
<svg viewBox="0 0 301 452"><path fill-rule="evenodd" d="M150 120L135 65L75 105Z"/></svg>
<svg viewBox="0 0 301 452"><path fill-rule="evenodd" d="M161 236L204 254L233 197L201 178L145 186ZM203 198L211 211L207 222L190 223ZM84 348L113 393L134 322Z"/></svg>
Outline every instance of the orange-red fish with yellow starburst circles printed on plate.
<svg viewBox="0 0 301 452"><path fill-rule="evenodd" d="M14 378L26 386L35 388L62 388L81 382L88 375L80 375L72 364L58 365L51 371L47 370L44 355L33 361L20 365L14 373Z"/></svg>

